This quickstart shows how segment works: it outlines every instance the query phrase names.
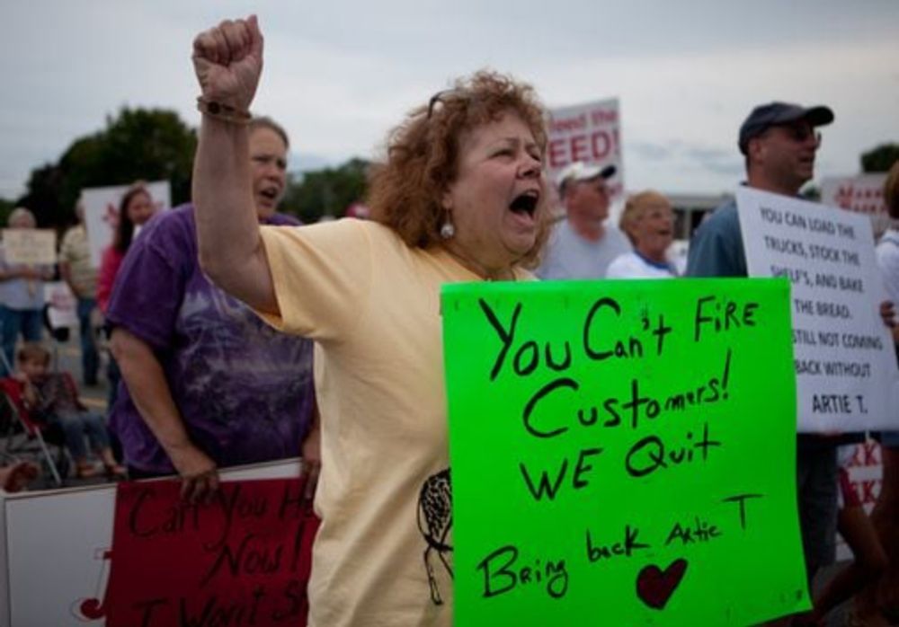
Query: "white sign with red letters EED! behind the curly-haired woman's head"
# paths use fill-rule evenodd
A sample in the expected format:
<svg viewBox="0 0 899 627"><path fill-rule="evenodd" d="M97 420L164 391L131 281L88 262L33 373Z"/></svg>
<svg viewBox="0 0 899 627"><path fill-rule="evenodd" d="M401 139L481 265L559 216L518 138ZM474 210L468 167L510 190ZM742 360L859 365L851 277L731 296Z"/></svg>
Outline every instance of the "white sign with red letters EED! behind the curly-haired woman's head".
<svg viewBox="0 0 899 627"><path fill-rule="evenodd" d="M624 163L621 159L621 122L618 99L587 102L549 111L546 165L555 182L569 163L583 161L614 165L617 173L609 181L610 196L624 193Z"/></svg>

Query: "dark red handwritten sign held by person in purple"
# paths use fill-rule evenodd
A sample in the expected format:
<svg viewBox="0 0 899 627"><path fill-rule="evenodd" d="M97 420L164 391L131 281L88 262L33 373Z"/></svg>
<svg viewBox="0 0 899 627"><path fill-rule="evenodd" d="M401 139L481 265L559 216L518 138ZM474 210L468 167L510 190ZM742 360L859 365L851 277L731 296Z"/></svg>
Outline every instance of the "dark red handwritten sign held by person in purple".
<svg viewBox="0 0 899 627"><path fill-rule="evenodd" d="M304 483L223 482L209 504L178 481L120 484L108 627L305 625L319 520Z"/></svg>

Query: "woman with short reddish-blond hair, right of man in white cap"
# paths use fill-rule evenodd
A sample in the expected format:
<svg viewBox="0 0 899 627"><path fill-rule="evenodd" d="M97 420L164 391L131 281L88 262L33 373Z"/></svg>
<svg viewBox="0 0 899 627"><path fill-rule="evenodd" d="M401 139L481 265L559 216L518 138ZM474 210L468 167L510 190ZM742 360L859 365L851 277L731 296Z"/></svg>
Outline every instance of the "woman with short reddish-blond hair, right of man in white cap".
<svg viewBox="0 0 899 627"><path fill-rule="evenodd" d="M677 270L668 261L674 239L672 205L662 194L641 191L628 198L619 221L634 246L609 264L606 278L674 278Z"/></svg>

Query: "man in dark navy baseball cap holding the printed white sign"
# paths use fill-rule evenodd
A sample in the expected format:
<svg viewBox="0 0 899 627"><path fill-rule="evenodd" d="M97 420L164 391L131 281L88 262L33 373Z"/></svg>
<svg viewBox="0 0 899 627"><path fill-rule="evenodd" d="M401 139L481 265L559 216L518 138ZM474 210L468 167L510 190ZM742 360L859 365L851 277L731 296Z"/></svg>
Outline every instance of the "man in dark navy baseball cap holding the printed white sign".
<svg viewBox="0 0 899 627"><path fill-rule="evenodd" d="M833 121L828 107L786 102L762 104L740 127L737 145L745 157L745 185L784 196L797 196L814 176L814 156L821 146L818 127ZM746 256L731 199L708 216L690 241L689 277L745 277ZM797 444L797 494L806 572L814 573L835 558L837 523L836 445L841 440L800 434Z"/></svg>

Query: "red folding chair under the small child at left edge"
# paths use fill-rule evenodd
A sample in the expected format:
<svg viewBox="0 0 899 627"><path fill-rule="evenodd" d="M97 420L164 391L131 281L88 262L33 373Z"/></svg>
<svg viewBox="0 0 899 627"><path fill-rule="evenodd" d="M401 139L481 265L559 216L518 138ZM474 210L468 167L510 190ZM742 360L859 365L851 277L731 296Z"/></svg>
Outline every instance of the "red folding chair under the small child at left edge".
<svg viewBox="0 0 899 627"><path fill-rule="evenodd" d="M61 486L68 470L64 440L60 428L40 423L25 409L22 384L11 377L0 378L0 456L42 464Z"/></svg>

